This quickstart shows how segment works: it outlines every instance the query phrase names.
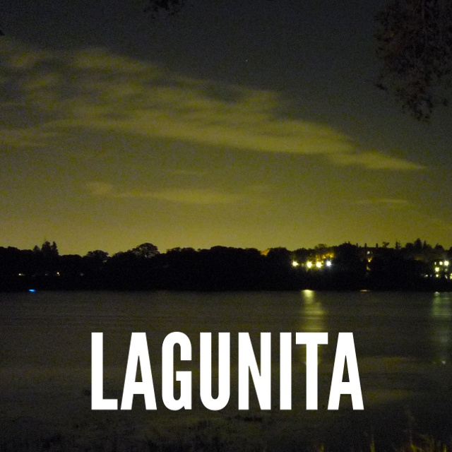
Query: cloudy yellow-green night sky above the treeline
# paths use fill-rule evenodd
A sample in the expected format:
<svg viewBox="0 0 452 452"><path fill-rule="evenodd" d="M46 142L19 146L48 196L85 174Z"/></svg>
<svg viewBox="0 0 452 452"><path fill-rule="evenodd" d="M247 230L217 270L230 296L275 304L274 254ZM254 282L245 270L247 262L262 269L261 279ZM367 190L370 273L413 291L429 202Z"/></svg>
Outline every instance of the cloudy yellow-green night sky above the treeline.
<svg viewBox="0 0 452 452"><path fill-rule="evenodd" d="M374 87L384 1L0 4L0 246L452 245L452 107Z"/></svg>

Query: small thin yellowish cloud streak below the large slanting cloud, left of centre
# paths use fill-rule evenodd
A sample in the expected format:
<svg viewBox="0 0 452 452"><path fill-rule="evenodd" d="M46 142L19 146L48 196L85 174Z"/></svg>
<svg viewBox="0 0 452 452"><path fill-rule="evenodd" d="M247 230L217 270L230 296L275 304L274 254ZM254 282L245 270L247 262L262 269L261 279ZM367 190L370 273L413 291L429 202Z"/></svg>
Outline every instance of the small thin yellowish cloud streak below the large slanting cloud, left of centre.
<svg viewBox="0 0 452 452"><path fill-rule="evenodd" d="M232 204L244 201L246 194L225 193L214 189L164 189L164 190L119 190L113 184L105 182L88 182L85 185L90 194L100 197L112 197L121 199L139 199L149 198L160 201L169 201L172 203L186 204Z"/></svg>

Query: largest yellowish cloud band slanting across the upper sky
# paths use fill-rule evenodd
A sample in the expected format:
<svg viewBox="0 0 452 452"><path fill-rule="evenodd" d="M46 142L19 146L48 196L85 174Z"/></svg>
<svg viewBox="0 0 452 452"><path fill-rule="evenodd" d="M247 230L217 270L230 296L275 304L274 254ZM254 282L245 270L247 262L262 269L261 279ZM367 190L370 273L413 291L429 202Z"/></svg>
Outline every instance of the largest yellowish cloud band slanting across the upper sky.
<svg viewBox="0 0 452 452"><path fill-rule="evenodd" d="M278 93L180 76L160 66L84 49L51 54L8 41L0 77L17 102L42 115L39 129L16 131L22 145L74 129L131 133L148 138L259 153L324 155L337 166L412 171L421 165L376 150L326 124L285 117ZM6 81L5 81L6 80ZM14 129L15 124L9 124ZM0 128L0 133L13 133ZM15 140L11 140L14 142Z"/></svg>

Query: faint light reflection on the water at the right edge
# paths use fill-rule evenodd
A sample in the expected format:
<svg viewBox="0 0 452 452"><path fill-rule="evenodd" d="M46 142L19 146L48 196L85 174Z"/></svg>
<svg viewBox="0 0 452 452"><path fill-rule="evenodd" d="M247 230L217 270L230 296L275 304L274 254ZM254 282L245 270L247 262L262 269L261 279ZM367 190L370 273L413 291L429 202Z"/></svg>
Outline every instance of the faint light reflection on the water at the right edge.
<svg viewBox="0 0 452 452"><path fill-rule="evenodd" d="M432 345L436 361L449 364L452 345L452 295L435 292L432 302Z"/></svg>

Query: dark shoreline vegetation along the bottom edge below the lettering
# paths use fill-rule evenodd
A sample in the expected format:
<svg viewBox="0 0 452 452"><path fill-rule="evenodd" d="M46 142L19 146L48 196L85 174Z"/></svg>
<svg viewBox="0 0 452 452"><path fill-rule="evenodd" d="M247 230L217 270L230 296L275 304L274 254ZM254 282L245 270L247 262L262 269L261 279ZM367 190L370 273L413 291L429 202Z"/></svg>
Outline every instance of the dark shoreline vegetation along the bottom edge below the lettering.
<svg viewBox="0 0 452 452"><path fill-rule="evenodd" d="M346 423L347 424L347 423ZM375 438L372 433L356 436L350 434L350 425L331 424L324 431L324 441L318 439L319 432L283 432L275 438L271 432L275 427L266 416L244 417L236 415L223 419L193 420L173 425L143 426L131 420L119 422L108 417L96 417L89 422L77 424L78 431L71 428L52 428L31 419L6 422L9 435L0 441L0 452L186 452L186 451L242 451L242 452L448 452L452 450L451 439L436 439L434 436L415 434L410 430L396 432L389 429L388 438ZM90 427L91 426L91 427ZM346 427L346 432L339 432ZM24 437L18 430L33 432ZM317 430L317 429L316 429ZM83 434L85 431L85 434ZM334 432L328 438L328 432ZM295 436L292 434L295 433ZM11 437L13 435L13 437Z"/></svg>

